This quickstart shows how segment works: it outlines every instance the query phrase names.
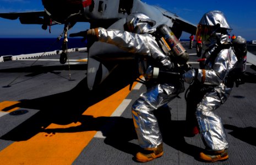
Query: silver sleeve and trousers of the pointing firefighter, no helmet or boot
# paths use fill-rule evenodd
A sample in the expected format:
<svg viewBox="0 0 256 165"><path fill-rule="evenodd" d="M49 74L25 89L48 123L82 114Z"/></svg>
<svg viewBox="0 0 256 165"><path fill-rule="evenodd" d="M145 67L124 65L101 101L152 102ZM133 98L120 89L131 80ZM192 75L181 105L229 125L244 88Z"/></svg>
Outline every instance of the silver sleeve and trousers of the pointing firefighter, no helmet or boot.
<svg viewBox="0 0 256 165"><path fill-rule="evenodd" d="M141 54L155 59L162 68L171 69L172 63L157 45L150 34L133 34L127 31L105 30L99 31L99 41L112 43L130 53ZM139 63L140 74L145 75L146 61ZM145 75L147 76L147 75ZM145 79L147 79L145 77ZM132 115L137 131L140 147L155 148L162 143L162 136L153 111L170 102L180 92L181 84L156 84L141 94L132 105Z"/></svg>

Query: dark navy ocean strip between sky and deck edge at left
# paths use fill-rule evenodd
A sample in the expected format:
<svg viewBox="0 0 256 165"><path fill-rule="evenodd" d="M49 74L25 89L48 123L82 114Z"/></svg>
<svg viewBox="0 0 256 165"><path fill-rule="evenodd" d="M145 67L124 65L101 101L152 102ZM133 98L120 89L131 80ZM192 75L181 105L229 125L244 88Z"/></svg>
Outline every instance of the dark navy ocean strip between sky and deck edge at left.
<svg viewBox="0 0 256 165"><path fill-rule="evenodd" d="M61 50L63 38L0 38L0 56ZM68 38L68 48L86 47L82 38Z"/></svg>

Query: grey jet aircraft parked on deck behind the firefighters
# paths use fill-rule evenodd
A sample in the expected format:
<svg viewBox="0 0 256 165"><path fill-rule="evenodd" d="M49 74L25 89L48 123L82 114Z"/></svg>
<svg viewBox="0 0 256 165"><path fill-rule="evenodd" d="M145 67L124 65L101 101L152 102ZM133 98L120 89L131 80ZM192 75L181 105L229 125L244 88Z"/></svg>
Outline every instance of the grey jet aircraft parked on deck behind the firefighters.
<svg viewBox="0 0 256 165"><path fill-rule="evenodd" d="M78 22L88 22L90 28L124 30L126 17L135 12L142 12L155 20L154 27L167 25L177 38L183 31L195 35L197 29L197 26L178 15L140 0L42 0L42 4L44 11L0 13L0 17L12 20L19 18L21 24L41 24L43 30L48 26L63 24L64 36L67 36L68 30ZM90 90L102 83L121 61L134 58L133 54L116 46L93 41L89 41L88 53L87 83ZM65 53L61 54L61 63L66 62L66 57Z"/></svg>

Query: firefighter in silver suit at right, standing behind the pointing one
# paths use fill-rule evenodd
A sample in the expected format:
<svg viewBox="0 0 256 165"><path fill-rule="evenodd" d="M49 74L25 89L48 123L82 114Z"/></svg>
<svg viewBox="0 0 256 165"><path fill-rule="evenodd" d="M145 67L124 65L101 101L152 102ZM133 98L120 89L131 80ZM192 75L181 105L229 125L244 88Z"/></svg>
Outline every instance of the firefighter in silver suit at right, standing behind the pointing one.
<svg viewBox="0 0 256 165"><path fill-rule="evenodd" d="M231 43L227 33L231 30L222 12L214 10L205 13L199 21L196 35L202 39L206 60L203 68L191 69L183 74L184 81L195 91L193 98L199 98L194 114L206 147L199 155L203 161L228 158L225 129L221 118L214 112L227 100L233 87L228 73L235 68L237 58L232 47L225 47ZM223 48L216 52L220 46ZM199 93L203 95L199 96Z"/></svg>

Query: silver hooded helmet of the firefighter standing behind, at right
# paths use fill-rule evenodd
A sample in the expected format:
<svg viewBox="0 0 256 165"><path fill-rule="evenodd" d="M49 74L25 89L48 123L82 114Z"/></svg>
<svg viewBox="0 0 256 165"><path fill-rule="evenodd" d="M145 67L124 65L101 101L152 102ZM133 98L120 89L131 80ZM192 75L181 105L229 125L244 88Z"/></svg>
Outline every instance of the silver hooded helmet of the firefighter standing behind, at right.
<svg viewBox="0 0 256 165"><path fill-rule="evenodd" d="M227 30L231 31L232 28L228 24L224 13L213 10L205 13L199 21L196 38L201 37L202 41L206 41L212 34L216 32L224 33Z"/></svg>

